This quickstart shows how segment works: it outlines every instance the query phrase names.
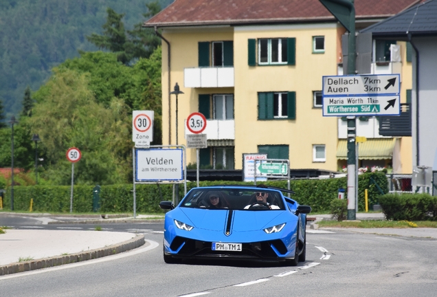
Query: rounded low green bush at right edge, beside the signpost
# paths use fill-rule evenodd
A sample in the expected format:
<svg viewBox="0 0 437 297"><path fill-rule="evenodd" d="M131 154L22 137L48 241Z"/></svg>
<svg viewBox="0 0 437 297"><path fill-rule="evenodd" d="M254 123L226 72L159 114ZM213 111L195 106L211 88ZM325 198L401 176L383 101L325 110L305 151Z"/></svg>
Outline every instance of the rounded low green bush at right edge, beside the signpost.
<svg viewBox="0 0 437 297"><path fill-rule="evenodd" d="M387 194L379 203L388 220L437 221L437 197L426 193Z"/></svg>

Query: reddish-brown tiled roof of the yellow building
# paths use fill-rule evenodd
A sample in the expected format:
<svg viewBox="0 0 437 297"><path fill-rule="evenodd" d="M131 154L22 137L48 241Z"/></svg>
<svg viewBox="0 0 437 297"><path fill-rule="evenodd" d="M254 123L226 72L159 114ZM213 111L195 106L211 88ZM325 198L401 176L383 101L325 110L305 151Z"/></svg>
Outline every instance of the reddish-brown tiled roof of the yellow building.
<svg viewBox="0 0 437 297"><path fill-rule="evenodd" d="M391 17L420 0L355 0L357 19ZM175 0L144 26L334 20L319 0Z"/></svg>

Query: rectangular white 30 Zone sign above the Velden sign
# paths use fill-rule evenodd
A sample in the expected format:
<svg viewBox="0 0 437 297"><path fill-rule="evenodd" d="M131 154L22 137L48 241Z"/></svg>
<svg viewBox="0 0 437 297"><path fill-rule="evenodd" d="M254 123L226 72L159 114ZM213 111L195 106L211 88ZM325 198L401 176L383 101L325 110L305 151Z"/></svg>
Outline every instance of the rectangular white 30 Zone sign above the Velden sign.
<svg viewBox="0 0 437 297"><path fill-rule="evenodd" d="M132 111L132 141L146 146L153 141L153 111Z"/></svg>

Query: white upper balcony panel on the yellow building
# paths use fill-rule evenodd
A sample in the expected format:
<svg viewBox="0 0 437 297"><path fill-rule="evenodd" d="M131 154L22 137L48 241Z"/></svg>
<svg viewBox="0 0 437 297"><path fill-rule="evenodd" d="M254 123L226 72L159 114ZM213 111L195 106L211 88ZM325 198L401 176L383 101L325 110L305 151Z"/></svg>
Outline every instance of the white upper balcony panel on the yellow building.
<svg viewBox="0 0 437 297"><path fill-rule="evenodd" d="M183 69L184 87L234 87L234 67L195 67Z"/></svg>

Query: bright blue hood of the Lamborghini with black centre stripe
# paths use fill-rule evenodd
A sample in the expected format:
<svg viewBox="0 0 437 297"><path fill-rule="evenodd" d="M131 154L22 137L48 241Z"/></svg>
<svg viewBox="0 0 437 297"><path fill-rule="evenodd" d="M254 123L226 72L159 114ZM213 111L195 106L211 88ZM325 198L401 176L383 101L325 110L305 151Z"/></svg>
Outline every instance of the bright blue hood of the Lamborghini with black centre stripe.
<svg viewBox="0 0 437 297"><path fill-rule="evenodd" d="M236 232L261 230L269 223L287 212L287 210L206 210L199 208L180 208L195 228L221 231L225 230L232 215L232 230ZM280 219L279 219L280 220ZM275 222L278 221L275 220ZM284 223L278 221L277 223Z"/></svg>

